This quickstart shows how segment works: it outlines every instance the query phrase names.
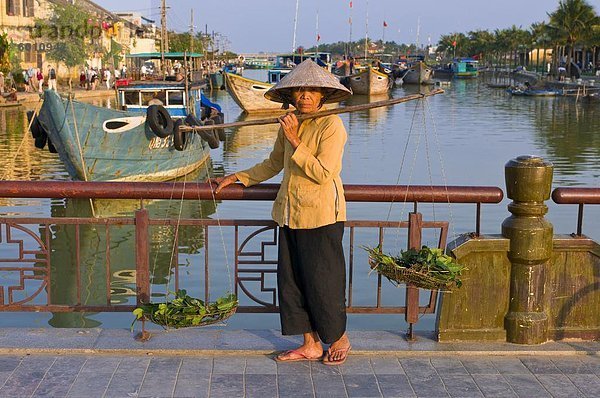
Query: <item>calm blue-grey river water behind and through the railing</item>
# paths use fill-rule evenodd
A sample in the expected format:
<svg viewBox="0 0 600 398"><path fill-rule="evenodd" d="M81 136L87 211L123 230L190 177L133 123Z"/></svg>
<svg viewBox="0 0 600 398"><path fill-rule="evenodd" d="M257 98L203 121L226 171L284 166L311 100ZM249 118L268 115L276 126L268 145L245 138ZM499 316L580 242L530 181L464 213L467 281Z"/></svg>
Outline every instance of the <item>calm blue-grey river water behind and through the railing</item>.
<svg viewBox="0 0 600 398"><path fill-rule="evenodd" d="M246 71L246 76L264 80L264 71ZM471 185L498 186L504 190L504 164L519 155L534 154L554 164L553 186L598 187L600 185L600 106L576 102L569 98L520 98L511 97L503 90L488 88L476 80L453 81L445 86L446 92L390 108L377 108L341 115L348 130L348 142L344 153L342 179L347 184L411 184L411 185ZM414 86L395 88L390 96L400 97L417 92ZM223 107L226 121L246 120L237 105L225 91L208 92L208 96ZM371 98L381 100L389 98ZM354 97L347 105L365 103L368 99ZM93 100L97 105L114 106L111 100ZM33 108L35 104L29 108ZM0 108L0 173L7 180L67 180L69 177L58 157L46 150L33 147L29 133L25 133L24 109ZM244 169L268 156L275 140L276 126L255 126L232 129L227 132L227 141L219 149L211 151L211 165L185 178L186 181L203 181L207 174L223 175ZM278 182L279 177L272 181ZM509 213L508 200L499 205L484 205L482 211L482 233L498 234L502 220ZM555 233L569 234L575 231L576 206L549 206L548 219L554 224ZM96 215L132 214L135 204L123 202L98 202ZM148 204L155 217L211 217L219 219L268 219L270 203L244 203L228 201L222 203L184 203L157 201ZM600 206L587 206L584 233L600 240ZM406 219L412 205L394 204L349 204L348 215L354 220L399 220ZM421 205L419 210L427 220L448 220L450 236L473 231L475 228L474 205ZM68 200L24 200L0 199L2 216L91 216L89 203ZM82 228L84 291L93 299L104 294L94 291L97 275L94 270L102 267L103 231ZM169 263L171 239L161 230L153 234L151 263ZM396 251L406 245L397 234ZM115 300L131 301L131 269L133 264L133 233L123 229L111 240L111 258L121 262L121 267L111 276L111 289ZM212 235L215 236L215 235ZM227 253L231 237L213 239L219 243L222 257L231 262L232 253ZM364 244L375 244L374 235L366 235ZM369 239L371 241L369 242ZM428 241L429 240L429 241ZM432 244L435 236L425 237L424 243ZM75 255L73 231L67 228L53 230L53 264L62 283L74 283L69 260ZM203 238L200 231L190 230L182 238L180 264L193 263L201 255ZM162 245L162 247L161 247ZM185 247L182 247L185 246ZM102 250L100 249L102 248ZM391 250L392 247L390 247ZM0 243L0 253L8 250ZM356 250L357 252L360 249ZM120 256L120 257L119 257ZM360 257L360 256L359 256ZM363 264L364 265L364 264ZM360 267L360 265L357 265ZM115 266L115 268L118 268ZM160 265L159 265L160 268ZM358 268L357 268L358 269ZM215 294L231 288L230 272L222 270L211 277L211 289ZM192 267L185 271L190 280L201 278L201 272ZM361 271L356 271L361 272ZM173 290L169 285L169 268L156 273L153 293ZM0 275L0 280L4 276ZM182 276L186 278L186 276ZM372 297L373 284L363 282L368 272L361 272L355 279L355 300L368 301ZM370 276L371 280L375 279ZM102 280L102 279L100 279ZM272 282L272 281L271 281ZM203 282L202 282L203 283ZM198 285L202 285L199 283ZM388 284L389 285L389 284ZM61 290L61 285L55 290ZM193 287L190 287L193 291ZM391 297L403 299L401 291L391 285L385 287ZM200 294L200 293L198 293ZM87 296L83 297L85 301ZM392 300L393 301L393 300ZM358 304L355 302L355 305ZM0 317L0 326L55 326L128 327L130 314L32 314L15 313ZM434 316L425 316L417 329L432 330ZM229 328L277 328L278 317L274 314L238 314L230 319ZM349 319L350 329L405 329L400 315L353 315Z"/></svg>

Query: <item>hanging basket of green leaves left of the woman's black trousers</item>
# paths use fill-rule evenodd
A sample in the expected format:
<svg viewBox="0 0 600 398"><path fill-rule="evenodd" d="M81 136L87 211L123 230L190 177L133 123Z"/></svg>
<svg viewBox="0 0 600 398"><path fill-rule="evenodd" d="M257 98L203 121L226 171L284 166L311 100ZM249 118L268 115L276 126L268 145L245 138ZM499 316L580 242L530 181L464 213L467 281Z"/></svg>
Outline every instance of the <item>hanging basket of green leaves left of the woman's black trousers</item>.
<svg viewBox="0 0 600 398"><path fill-rule="evenodd" d="M164 303L143 304L133 311L137 320L149 320L164 328L187 328L208 326L223 322L238 307L238 299L234 294L218 298L215 302L204 303L202 300L187 295L185 290L178 290L175 299Z"/></svg>

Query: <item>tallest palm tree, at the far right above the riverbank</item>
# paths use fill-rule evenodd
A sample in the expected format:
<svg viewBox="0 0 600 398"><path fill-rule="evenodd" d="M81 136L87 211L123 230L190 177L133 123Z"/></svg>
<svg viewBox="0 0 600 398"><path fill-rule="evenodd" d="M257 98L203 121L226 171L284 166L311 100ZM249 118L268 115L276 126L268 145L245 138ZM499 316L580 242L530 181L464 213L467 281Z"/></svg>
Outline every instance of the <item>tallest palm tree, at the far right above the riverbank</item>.
<svg viewBox="0 0 600 398"><path fill-rule="evenodd" d="M598 25L598 16L586 0L560 0L551 14L550 26L567 49L567 71L571 74L571 60L575 46L585 38L591 26Z"/></svg>

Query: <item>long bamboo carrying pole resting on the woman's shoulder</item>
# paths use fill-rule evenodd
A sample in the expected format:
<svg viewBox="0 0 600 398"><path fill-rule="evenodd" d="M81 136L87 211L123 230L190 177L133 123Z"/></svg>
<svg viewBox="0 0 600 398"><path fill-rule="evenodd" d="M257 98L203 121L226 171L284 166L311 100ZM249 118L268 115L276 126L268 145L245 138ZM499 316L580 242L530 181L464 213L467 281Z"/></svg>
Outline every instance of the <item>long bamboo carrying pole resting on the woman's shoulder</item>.
<svg viewBox="0 0 600 398"><path fill-rule="evenodd" d="M443 92L444 92L443 89L438 88L429 93L413 94L413 95L407 95L406 97L392 98L389 100L377 101L377 102L370 102L368 104L352 105L352 106L346 106L343 108L328 109L326 111L320 111L320 112L315 112L315 113L300 114L300 115L298 115L298 121L314 119L314 118L322 117L322 116L337 115L340 113L349 113L349 112L362 111L365 109L380 108L383 106L396 105L396 104L401 104L403 102L414 101L414 100L423 99L426 97L431 97L431 96L434 96L437 94L442 94ZM278 117L257 119L257 120L245 120L242 122L224 123L224 124L218 124L218 125L211 124L209 126L193 126L193 127L192 126L180 126L179 128L183 132L188 132L188 131L213 130L215 128L222 129L222 128L229 128L229 127L257 126L257 125L262 125L262 124L275 124L275 123L279 123Z"/></svg>

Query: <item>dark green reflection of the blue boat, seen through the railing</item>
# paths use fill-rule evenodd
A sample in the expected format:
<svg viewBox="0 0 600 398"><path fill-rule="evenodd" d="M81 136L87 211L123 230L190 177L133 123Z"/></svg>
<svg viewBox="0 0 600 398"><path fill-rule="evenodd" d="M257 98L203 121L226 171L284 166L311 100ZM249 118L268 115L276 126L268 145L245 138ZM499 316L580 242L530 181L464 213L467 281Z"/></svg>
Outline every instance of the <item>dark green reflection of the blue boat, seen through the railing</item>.
<svg viewBox="0 0 600 398"><path fill-rule="evenodd" d="M193 177L195 181L202 181L206 173L199 172ZM51 214L52 217L133 216L139 205L140 202L135 200L68 199L62 205L53 205ZM155 219L209 218L215 213L215 206L216 203L211 201L144 201L150 217ZM186 257L203 253L204 230L195 226L153 226L149 239L151 292L154 297L164 296L168 291L175 290L173 274L177 258L181 265L187 261ZM79 302L93 306L106 305L107 301L113 305L135 303L133 225L111 226L108 234L106 227L100 224L81 225L79 232L72 225L55 225L52 227L50 247L50 298L53 304L74 305ZM79 268L76 267L78 260ZM100 323L93 319L93 315L53 313L48 323L53 327L95 327Z"/></svg>

